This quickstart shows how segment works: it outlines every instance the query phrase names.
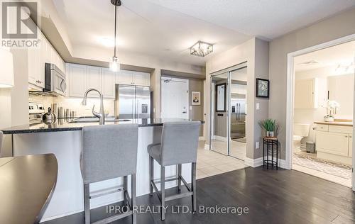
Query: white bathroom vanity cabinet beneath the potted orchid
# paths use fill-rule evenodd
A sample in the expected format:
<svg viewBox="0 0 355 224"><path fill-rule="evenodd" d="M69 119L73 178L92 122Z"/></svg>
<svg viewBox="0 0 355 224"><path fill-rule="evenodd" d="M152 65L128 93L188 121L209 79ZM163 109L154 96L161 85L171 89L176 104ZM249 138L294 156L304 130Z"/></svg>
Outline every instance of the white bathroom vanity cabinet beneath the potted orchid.
<svg viewBox="0 0 355 224"><path fill-rule="evenodd" d="M352 127L317 124L317 157L344 164L351 164Z"/></svg>

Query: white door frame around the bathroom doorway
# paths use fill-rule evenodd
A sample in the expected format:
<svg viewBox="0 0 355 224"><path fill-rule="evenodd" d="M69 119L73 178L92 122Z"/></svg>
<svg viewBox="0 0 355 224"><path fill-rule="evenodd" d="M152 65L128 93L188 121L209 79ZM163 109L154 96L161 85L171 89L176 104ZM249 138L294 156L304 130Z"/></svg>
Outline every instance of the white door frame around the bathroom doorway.
<svg viewBox="0 0 355 224"><path fill-rule="evenodd" d="M315 45L312 47L307 47L302 50L297 50L295 52L288 53L288 71L287 71L287 102L286 102L286 157L285 157L285 168L292 169L292 148L293 148L293 102L295 93L295 70L294 70L294 57L307 54L309 52L314 52L316 50L321 50L327 47L332 47L334 45L339 45L349 41L355 40L355 34L345 36L343 38L338 38L336 40L331 40L327 43L321 43L320 45ZM355 85L355 84L354 84ZM355 96L355 94L354 94ZM354 111L355 112L355 111ZM355 120L354 113L353 121ZM355 127L353 127L353 133ZM355 164L355 142L353 142L353 167ZM355 173L353 168L352 173L352 186L355 191Z"/></svg>

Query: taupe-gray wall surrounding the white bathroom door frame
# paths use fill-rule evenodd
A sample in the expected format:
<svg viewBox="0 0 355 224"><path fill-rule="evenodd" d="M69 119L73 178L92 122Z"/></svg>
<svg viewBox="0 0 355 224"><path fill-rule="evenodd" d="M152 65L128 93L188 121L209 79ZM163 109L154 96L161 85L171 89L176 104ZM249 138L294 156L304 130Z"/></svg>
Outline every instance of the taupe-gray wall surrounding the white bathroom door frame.
<svg viewBox="0 0 355 224"><path fill-rule="evenodd" d="M278 138L281 145L282 159L285 159L288 53L354 34L354 21L355 9L353 8L271 41L269 72L271 98L268 111L269 116L277 119L281 125Z"/></svg>

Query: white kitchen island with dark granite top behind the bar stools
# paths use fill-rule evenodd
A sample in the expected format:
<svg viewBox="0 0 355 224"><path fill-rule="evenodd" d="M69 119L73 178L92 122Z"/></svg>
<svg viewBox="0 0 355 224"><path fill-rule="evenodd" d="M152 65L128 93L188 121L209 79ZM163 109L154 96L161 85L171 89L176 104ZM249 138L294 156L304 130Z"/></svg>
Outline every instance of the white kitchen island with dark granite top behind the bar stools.
<svg viewBox="0 0 355 224"><path fill-rule="evenodd" d="M137 183L136 194L141 196L149 194L149 166L147 146L153 142L160 142L163 123L166 121L185 121L182 119L134 119L124 121L111 121L106 125L119 125L120 123L138 123L138 157L137 157ZM203 122L202 122L203 123ZM43 215L43 220L51 220L65 215L84 211L83 183L80 172L80 152L82 150L82 127L98 125L98 122L72 122L67 119L58 119L52 125L44 123L36 125L22 125L3 129L4 134L13 136L13 156L38 155L53 153L58 159L58 181L52 199ZM154 177L160 178L159 165L156 167ZM182 175L190 180L190 164L182 165ZM165 168L166 178L176 177L175 166ZM103 189L111 190L122 186L121 178L102 181L90 185L91 194L97 194ZM176 186L176 181L168 182L165 188ZM121 193L94 198L90 201L91 208L105 206L116 201L122 201Z"/></svg>

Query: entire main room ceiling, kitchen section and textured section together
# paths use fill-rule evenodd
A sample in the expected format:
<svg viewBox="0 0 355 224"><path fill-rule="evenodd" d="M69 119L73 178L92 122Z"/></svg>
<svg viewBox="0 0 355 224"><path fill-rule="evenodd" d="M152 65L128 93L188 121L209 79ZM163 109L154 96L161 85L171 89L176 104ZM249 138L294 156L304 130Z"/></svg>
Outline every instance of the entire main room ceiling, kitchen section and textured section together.
<svg viewBox="0 0 355 224"><path fill-rule="evenodd" d="M73 49L111 50L114 6L109 0L53 0ZM355 5L355 0L122 0L118 55L136 52L191 65L211 57L190 55L197 40L228 50L251 38L275 38ZM113 54L113 49L112 49ZM108 58L109 60L109 58Z"/></svg>

